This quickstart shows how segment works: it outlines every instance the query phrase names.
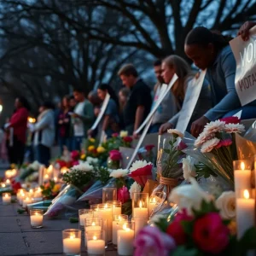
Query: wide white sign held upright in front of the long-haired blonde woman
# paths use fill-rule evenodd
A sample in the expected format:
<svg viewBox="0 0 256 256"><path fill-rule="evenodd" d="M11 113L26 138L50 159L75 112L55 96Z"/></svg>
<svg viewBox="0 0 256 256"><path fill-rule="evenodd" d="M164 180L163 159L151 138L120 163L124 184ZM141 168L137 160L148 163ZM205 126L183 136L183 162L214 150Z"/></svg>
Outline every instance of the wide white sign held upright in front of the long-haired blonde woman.
<svg viewBox="0 0 256 256"><path fill-rule="evenodd" d="M198 79L194 78L189 81L183 102L183 108L180 110L180 114L177 119L176 129L178 131L185 132L187 130L189 120L191 119L196 102L198 101L206 73L207 71L204 70L200 73Z"/></svg>

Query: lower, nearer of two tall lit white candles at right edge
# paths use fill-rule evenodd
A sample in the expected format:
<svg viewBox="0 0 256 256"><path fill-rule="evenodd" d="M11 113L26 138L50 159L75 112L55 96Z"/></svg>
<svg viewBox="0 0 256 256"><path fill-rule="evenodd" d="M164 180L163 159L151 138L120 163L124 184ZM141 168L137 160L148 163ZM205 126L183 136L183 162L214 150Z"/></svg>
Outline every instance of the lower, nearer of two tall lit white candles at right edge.
<svg viewBox="0 0 256 256"><path fill-rule="evenodd" d="M249 197L249 192L245 189L243 192L243 198L236 199L236 226L238 239L244 235L246 230L254 225L255 200Z"/></svg>

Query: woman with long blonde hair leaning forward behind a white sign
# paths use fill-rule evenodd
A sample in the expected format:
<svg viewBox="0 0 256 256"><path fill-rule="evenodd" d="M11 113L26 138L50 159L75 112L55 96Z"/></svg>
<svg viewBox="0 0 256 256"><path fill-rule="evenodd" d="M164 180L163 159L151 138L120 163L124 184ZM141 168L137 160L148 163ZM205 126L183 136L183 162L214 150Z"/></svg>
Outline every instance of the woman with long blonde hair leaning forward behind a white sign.
<svg viewBox="0 0 256 256"><path fill-rule="evenodd" d="M168 129L172 129L177 125L177 120L183 108L183 102L188 89L188 86L192 79L194 79L195 74L192 72L189 64L183 60L183 58L177 55L170 55L164 61L162 61L162 76L165 83L170 83L172 76L177 74L177 82L172 86L172 94L175 97L178 113L175 114L172 119L160 126L160 134L163 134ZM207 112L210 108L210 90L207 83L202 85L201 93L199 95L198 101L195 105L195 109L190 117L189 126L191 122L203 113ZM170 110L171 111L171 110Z"/></svg>

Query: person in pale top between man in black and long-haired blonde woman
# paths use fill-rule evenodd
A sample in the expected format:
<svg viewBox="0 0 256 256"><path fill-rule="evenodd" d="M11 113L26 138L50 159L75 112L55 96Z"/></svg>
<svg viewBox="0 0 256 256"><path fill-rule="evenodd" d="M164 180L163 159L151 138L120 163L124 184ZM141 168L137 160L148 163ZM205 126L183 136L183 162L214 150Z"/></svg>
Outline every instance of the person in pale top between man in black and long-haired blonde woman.
<svg viewBox="0 0 256 256"><path fill-rule="evenodd" d="M160 60L154 62L154 74L157 79L157 84L154 85L154 101L152 108L154 108L155 102L158 101L160 93L162 92L161 90L163 84L165 84L165 80L162 77L161 64L162 62ZM156 109L148 133L158 132L160 129L160 125L165 124L176 113L177 106L175 104L174 96L172 95L172 92L170 90L167 92L162 102L160 102L159 107Z"/></svg>

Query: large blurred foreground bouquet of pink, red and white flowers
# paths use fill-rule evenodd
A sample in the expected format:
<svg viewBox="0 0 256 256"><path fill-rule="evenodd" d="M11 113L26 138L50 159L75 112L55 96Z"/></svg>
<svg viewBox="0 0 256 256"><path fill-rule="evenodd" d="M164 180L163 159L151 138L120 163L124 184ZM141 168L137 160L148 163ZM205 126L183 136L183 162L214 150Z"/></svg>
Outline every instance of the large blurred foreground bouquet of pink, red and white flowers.
<svg viewBox="0 0 256 256"><path fill-rule="evenodd" d="M174 218L159 218L154 226L140 230L135 239L135 256L148 255L246 255L256 248L255 228L236 239L234 192L217 201L191 178L190 185L172 189L170 200L180 211Z"/></svg>

